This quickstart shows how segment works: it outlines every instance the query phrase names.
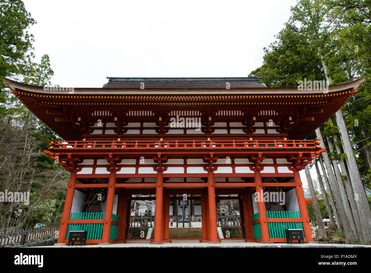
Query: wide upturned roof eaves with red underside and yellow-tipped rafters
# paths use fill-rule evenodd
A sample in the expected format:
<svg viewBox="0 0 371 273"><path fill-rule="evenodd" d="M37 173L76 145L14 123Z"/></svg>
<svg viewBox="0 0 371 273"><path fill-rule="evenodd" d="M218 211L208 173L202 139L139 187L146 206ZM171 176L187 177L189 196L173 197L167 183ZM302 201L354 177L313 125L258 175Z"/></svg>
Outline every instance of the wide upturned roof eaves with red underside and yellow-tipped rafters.
<svg viewBox="0 0 371 273"><path fill-rule="evenodd" d="M218 78L219 79L219 78ZM64 140L79 140L78 128L70 121L56 118L66 109L102 111L143 110L212 110L255 113L303 111L305 116L288 131L289 139L305 139L339 110L364 82L360 78L332 85L326 92L292 88L74 88L74 90L45 90L44 87L22 84L4 78L13 94ZM255 82L258 84L257 82ZM177 84L172 82L172 84ZM297 112L296 112L297 113ZM149 122L149 121L148 121ZM242 136L240 136L242 137Z"/></svg>

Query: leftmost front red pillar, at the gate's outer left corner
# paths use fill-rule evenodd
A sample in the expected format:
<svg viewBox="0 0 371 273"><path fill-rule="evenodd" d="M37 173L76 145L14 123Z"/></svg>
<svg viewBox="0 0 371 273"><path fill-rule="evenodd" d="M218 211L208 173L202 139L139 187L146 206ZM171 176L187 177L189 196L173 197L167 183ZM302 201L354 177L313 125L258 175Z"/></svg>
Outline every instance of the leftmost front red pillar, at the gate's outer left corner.
<svg viewBox="0 0 371 273"><path fill-rule="evenodd" d="M68 220L71 214L73 195L75 194L75 185L76 185L76 172L72 171L70 173L70 179L68 182L67 195L65 201L65 207L63 208L62 219L60 220L58 244L65 243L68 230Z"/></svg>

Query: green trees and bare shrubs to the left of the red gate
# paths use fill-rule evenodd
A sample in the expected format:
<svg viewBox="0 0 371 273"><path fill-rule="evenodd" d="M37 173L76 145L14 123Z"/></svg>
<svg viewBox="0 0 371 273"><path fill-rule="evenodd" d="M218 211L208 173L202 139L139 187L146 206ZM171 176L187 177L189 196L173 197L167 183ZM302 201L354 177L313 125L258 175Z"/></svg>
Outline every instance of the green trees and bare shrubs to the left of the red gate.
<svg viewBox="0 0 371 273"><path fill-rule="evenodd" d="M67 173L43 154L47 140L58 136L40 122L5 85L3 77L26 84L51 85L54 72L47 54L34 62L33 35L36 22L22 1L0 2L0 191L30 192L30 203L1 202L0 225L10 218L48 224L56 212L60 219Z"/></svg>

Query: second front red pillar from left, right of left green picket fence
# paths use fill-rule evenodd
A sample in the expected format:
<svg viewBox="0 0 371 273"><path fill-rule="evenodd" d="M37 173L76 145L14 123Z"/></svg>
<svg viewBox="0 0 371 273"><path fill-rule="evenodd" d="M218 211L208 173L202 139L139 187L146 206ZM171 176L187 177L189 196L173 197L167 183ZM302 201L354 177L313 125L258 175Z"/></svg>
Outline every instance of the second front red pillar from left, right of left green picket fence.
<svg viewBox="0 0 371 273"><path fill-rule="evenodd" d="M109 243L109 233L111 232L112 210L114 208L116 172L109 173L108 192L106 210L104 213L102 243Z"/></svg>

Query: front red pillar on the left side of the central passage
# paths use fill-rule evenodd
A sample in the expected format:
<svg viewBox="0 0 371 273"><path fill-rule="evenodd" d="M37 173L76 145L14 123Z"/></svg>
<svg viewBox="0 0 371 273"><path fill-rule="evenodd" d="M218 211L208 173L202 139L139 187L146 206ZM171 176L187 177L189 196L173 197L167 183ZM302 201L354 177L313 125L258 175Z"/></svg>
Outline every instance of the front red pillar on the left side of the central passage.
<svg viewBox="0 0 371 273"><path fill-rule="evenodd" d="M157 172L157 182L156 182L156 206L155 206L155 235L154 242L160 243L162 241L162 226L164 218L162 215L163 206L163 186L164 178L162 172Z"/></svg>

